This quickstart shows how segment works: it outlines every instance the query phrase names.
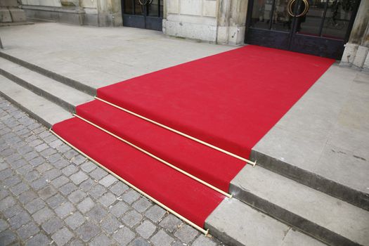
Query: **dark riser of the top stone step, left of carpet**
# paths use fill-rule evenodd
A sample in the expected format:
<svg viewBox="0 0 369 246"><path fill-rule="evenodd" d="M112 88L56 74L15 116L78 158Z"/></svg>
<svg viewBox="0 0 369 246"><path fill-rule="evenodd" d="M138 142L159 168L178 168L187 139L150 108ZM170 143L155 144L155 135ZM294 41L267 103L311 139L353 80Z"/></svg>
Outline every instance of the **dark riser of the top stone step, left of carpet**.
<svg viewBox="0 0 369 246"><path fill-rule="evenodd" d="M74 89L77 89L78 91L82 91L84 93L87 93L91 96L95 96L96 95L96 89L91 87L91 86L87 86L86 84L82 84L81 82L76 81L75 79L70 79L68 77L65 77L63 75L59 75L56 72L52 72L50 70L46 70L43 67L39 67L38 65L34 65L32 63L28 63L25 60L21 60L19 58L16 58L14 56L8 55L7 53L1 52L0 51L0 57L4 58L6 60L9 60L13 63L16 63L18 65L21 65L22 67L26 67L29 70L32 70L34 72L39 73L40 75L44 75L46 77L49 77L50 79L54 79L57 82L63 83L67 86L70 86Z"/></svg>

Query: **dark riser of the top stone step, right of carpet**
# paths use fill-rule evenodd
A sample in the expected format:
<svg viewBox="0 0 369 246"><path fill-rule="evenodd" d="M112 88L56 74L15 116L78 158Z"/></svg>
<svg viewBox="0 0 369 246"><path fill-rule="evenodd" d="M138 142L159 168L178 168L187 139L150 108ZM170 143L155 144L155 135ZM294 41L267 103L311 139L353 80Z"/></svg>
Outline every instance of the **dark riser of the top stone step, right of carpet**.
<svg viewBox="0 0 369 246"><path fill-rule="evenodd" d="M344 186L341 183L314 174L311 171L306 171L287 162L277 160L274 157L255 150L252 150L250 158L251 160L257 160L260 167L264 167L276 174L280 174L305 186L309 186L334 198L349 202L351 205L369 211L369 197L359 190Z"/></svg>

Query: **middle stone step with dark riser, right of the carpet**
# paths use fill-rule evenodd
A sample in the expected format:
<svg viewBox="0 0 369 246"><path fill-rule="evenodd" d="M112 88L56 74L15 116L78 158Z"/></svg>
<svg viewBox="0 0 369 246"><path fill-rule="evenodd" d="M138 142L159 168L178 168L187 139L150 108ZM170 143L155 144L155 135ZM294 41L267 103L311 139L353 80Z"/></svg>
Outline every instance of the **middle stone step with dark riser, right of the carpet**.
<svg viewBox="0 0 369 246"><path fill-rule="evenodd" d="M328 245L369 245L368 211L263 167L245 166L230 192Z"/></svg>

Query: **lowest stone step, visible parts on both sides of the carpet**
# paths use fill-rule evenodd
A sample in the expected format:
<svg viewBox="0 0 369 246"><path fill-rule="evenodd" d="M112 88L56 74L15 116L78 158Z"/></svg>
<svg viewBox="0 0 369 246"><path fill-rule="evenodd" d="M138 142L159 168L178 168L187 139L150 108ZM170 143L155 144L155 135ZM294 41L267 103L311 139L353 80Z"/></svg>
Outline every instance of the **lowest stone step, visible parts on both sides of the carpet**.
<svg viewBox="0 0 369 246"><path fill-rule="evenodd" d="M59 105L1 75L0 95L46 127L71 117L70 112ZM229 245L324 245L236 198L221 202L205 221L205 228Z"/></svg>

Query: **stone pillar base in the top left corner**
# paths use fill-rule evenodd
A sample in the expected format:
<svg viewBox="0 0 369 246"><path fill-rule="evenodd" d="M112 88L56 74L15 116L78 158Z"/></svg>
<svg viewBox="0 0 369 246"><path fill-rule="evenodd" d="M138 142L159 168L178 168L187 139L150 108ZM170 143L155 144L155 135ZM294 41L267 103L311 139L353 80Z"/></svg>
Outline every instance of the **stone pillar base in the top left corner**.
<svg viewBox="0 0 369 246"><path fill-rule="evenodd" d="M0 23L26 22L25 11L18 8L17 0L0 1Z"/></svg>

